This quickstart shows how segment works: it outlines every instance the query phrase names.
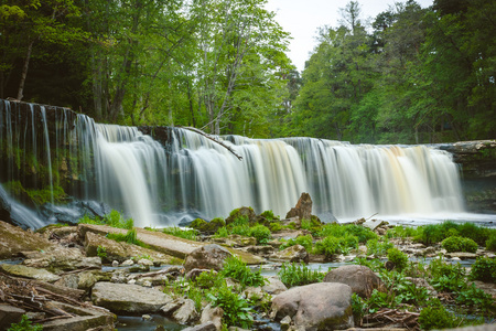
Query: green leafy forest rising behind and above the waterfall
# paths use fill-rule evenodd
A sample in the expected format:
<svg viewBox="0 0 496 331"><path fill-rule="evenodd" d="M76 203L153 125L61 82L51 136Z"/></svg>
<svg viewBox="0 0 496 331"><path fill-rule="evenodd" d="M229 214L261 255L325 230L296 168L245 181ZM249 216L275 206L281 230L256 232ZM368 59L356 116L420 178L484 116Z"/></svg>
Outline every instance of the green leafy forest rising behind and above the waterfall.
<svg viewBox="0 0 496 331"><path fill-rule="evenodd" d="M298 72L267 0L2 0L0 98L213 135L496 137L496 1L336 8Z"/></svg>

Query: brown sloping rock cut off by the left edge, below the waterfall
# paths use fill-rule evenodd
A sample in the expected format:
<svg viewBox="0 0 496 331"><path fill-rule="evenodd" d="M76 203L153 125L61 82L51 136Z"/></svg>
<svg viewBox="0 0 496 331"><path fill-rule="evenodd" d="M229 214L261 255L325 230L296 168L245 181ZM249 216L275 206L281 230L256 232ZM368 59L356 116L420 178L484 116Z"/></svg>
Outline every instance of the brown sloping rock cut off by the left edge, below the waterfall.
<svg viewBox="0 0 496 331"><path fill-rule="evenodd" d="M12 258L24 250L46 249L52 243L39 234L0 221L0 259Z"/></svg>

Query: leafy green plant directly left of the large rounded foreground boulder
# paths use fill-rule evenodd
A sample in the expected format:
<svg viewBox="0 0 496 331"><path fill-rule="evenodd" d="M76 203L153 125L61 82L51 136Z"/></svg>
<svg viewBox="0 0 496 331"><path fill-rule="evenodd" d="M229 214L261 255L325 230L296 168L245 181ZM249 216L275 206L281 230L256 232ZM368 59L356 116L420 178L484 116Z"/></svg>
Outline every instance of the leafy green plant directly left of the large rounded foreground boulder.
<svg viewBox="0 0 496 331"><path fill-rule="evenodd" d="M251 317L252 309L249 307L247 300L234 292L231 288L223 285L214 293L206 295L214 307L220 307L224 310L223 323L227 327L240 327L242 329L250 329L254 322Z"/></svg>

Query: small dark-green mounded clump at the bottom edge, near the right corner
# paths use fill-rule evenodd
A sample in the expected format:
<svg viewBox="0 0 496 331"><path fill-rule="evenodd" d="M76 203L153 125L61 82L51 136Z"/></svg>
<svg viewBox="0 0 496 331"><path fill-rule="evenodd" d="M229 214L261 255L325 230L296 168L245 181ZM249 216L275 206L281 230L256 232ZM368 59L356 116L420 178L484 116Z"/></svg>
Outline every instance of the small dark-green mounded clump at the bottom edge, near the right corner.
<svg viewBox="0 0 496 331"><path fill-rule="evenodd" d="M438 299L420 311L419 324L422 330L456 328L459 323L459 319L450 313Z"/></svg>

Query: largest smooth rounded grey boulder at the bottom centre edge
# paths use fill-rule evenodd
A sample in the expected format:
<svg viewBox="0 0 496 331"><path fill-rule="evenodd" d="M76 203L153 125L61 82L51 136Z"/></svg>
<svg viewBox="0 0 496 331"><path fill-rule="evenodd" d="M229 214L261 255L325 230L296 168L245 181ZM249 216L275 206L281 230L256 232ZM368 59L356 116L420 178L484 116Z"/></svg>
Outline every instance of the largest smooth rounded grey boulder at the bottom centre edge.
<svg viewBox="0 0 496 331"><path fill-rule="evenodd" d="M278 320L289 316L304 330L353 328L352 288L337 282L293 287L273 298L271 316Z"/></svg>

